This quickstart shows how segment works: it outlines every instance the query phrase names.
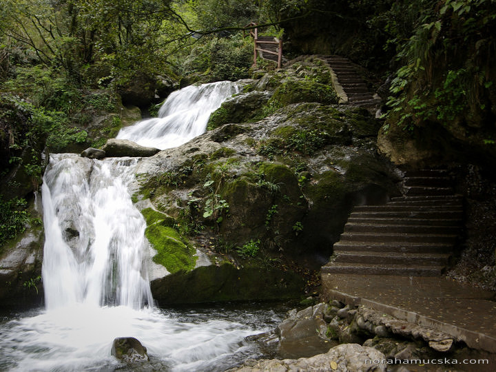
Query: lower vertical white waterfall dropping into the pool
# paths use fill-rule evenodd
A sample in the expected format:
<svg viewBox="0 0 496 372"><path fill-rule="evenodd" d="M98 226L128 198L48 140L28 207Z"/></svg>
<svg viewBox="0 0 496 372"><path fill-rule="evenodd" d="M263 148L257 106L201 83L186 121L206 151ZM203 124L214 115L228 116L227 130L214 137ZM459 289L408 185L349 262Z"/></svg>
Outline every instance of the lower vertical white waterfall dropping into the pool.
<svg viewBox="0 0 496 372"><path fill-rule="evenodd" d="M42 188L47 309L152 304L145 220L127 192L136 163L52 155Z"/></svg>

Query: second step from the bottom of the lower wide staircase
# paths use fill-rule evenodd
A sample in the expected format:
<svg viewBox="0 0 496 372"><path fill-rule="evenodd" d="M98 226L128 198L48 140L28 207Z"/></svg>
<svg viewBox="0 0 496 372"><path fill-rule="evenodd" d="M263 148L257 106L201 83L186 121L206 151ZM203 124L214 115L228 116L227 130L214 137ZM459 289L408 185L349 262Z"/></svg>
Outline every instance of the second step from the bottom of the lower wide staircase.
<svg viewBox="0 0 496 372"><path fill-rule="evenodd" d="M417 254L402 252L340 251L332 262L387 265L444 266L450 254Z"/></svg>

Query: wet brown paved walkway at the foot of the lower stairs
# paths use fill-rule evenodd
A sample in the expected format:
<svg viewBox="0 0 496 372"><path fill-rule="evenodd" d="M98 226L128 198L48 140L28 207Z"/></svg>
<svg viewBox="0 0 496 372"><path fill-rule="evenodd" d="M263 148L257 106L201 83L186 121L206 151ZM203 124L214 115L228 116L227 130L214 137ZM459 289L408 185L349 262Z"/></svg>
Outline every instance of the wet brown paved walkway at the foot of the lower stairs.
<svg viewBox="0 0 496 372"><path fill-rule="evenodd" d="M496 293L446 278L322 273L322 299L363 305L496 353Z"/></svg>

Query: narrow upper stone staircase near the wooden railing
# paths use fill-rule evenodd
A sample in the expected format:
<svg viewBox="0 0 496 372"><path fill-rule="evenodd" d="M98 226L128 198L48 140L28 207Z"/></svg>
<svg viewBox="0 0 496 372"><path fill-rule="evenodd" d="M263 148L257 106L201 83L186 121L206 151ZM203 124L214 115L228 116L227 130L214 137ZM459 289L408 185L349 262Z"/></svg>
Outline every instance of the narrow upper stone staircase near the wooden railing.
<svg viewBox="0 0 496 372"><path fill-rule="evenodd" d="M380 98L369 90L353 63L342 56L318 56L333 70L338 83L346 95L344 101L354 106L375 106ZM336 84L335 84L336 85Z"/></svg>

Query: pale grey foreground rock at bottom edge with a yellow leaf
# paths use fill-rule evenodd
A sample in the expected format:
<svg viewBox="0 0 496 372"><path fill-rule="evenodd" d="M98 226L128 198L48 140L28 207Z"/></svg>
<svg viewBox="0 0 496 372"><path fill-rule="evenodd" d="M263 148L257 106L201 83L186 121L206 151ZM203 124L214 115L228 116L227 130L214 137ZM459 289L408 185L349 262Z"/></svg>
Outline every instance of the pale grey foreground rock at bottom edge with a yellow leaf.
<svg viewBox="0 0 496 372"><path fill-rule="evenodd" d="M362 372L386 371L387 364L381 364L384 354L371 347L362 347L359 344L342 344L333 347L327 353L315 355L311 358L258 360L245 362L245 366L229 369L229 372L249 371L336 371ZM375 363L374 363L375 362Z"/></svg>

